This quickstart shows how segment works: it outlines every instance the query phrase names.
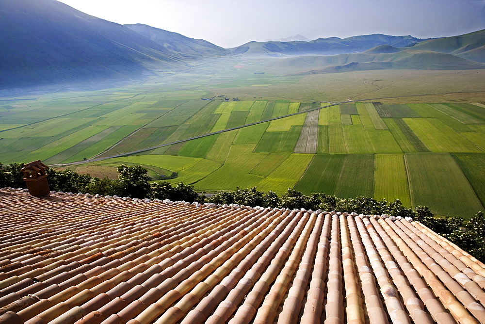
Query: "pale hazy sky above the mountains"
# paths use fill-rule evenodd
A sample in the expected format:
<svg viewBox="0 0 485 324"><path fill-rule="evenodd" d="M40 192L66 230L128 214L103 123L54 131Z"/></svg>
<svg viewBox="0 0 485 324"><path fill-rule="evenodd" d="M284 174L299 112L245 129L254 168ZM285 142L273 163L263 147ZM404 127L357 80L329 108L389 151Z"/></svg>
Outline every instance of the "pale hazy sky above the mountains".
<svg viewBox="0 0 485 324"><path fill-rule="evenodd" d="M142 23L224 48L301 34L446 37L485 29L485 0L60 0L120 24Z"/></svg>

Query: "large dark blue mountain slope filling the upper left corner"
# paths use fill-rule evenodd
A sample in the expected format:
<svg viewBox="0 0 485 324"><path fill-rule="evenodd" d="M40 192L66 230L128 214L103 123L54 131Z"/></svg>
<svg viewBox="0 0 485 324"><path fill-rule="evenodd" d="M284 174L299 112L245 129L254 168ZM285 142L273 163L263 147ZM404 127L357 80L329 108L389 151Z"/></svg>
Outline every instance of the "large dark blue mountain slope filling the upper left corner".
<svg viewBox="0 0 485 324"><path fill-rule="evenodd" d="M1 0L0 16L0 89L126 80L185 61L123 25L55 0Z"/></svg>

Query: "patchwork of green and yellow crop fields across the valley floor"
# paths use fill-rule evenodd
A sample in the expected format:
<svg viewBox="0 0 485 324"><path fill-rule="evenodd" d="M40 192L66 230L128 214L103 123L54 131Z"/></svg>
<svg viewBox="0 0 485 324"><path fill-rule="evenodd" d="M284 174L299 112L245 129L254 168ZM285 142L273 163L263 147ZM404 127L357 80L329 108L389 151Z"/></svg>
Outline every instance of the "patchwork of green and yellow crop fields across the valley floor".
<svg viewBox="0 0 485 324"><path fill-rule="evenodd" d="M69 163L167 144L72 168L96 174L142 164L154 179L183 181L198 191L256 186L279 194L294 188L366 195L465 217L484 209L483 103L324 107L279 99L201 100L205 95L133 88L14 100L0 105L0 162Z"/></svg>

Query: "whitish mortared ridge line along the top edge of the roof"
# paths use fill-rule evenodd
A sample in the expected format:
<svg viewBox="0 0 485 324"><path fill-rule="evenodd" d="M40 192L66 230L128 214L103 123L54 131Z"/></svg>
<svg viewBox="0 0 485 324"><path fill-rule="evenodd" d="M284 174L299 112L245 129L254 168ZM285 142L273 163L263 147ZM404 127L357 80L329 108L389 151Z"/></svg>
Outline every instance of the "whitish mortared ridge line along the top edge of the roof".
<svg viewBox="0 0 485 324"><path fill-rule="evenodd" d="M29 192L29 189L24 189L24 188L12 188L12 187L3 187L3 188L0 188L0 191L22 191L22 192ZM62 191L51 191L50 192L51 195L58 195L58 196L62 196L62 195L68 195L68 196L78 196L78 197L86 197L86 198L98 198L98 199L118 199L118 200L125 200L125 201L132 201L132 202L163 202L163 203L168 203L168 204L183 204L185 206L194 206L194 207L200 207L200 206L205 206L207 208L214 208L214 207L222 207L222 208L227 208L227 207L230 207L230 208L234 208L234 209L238 209L238 208L241 208L241 209L247 209L247 210L273 210L273 211L295 211L295 212L298 212L298 211L308 211L309 213L312 213L312 212L315 212L317 214L320 214L322 213L323 215L326 215L326 214L330 214L330 215L343 215L343 216L358 216L360 218L376 218L376 219L379 219L379 218L382 218L382 219L385 219L385 218L389 218L391 221L400 221L400 220L406 220L408 222L412 222L413 219L411 217L402 217L402 216L390 216L390 215L387 215L387 214L382 214L382 215L364 215L364 214L357 214L356 212L351 212L351 213L347 213L347 212L340 212L340 211L322 211L322 210L317 210L317 211L312 211L311 209L310 210L306 210L305 208L301 208L301 209L289 209L289 208L271 208L271 207L260 207L260 206L256 206L256 207L251 207L251 206L245 206L245 205L238 205L238 204L214 204L214 203L205 203L205 204L200 204L196 201L194 201L193 203L190 203L190 202L187 202L187 201L171 201L169 199L164 199L164 200L160 200L160 199L149 199L149 198L144 198L144 199L140 199L140 198L131 198L131 197L119 197L117 195L114 195L114 196L110 196L110 195L106 195L106 196L102 196L102 195L99 195L99 194L95 194L95 195L92 195L92 194L89 194L89 193L86 193L86 194L83 194L83 193L78 193L78 194L73 194L73 193L65 193L65 192L62 192Z"/></svg>

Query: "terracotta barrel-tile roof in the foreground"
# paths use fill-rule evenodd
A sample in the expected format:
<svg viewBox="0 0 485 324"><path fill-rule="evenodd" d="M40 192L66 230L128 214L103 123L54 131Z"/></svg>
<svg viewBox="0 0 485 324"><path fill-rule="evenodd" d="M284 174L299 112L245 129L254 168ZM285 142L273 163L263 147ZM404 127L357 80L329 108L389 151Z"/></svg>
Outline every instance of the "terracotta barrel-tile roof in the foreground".
<svg viewBox="0 0 485 324"><path fill-rule="evenodd" d="M400 217L0 190L0 323L485 323L485 266Z"/></svg>

